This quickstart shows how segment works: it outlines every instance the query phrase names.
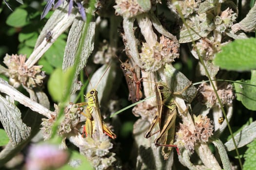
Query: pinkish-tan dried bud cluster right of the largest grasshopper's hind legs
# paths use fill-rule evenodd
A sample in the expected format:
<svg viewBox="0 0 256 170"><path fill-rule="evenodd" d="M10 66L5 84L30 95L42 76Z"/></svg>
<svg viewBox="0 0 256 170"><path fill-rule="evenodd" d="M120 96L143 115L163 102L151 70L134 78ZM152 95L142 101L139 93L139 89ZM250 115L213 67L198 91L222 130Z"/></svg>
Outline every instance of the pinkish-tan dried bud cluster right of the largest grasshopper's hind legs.
<svg viewBox="0 0 256 170"><path fill-rule="evenodd" d="M187 125L180 123L180 128L176 133L177 141L175 144L178 145L178 148L185 148L190 152L194 152L195 145L197 143L208 142L210 136L213 135L214 126L212 121L205 117L194 116L195 129L194 132L189 130Z"/></svg>

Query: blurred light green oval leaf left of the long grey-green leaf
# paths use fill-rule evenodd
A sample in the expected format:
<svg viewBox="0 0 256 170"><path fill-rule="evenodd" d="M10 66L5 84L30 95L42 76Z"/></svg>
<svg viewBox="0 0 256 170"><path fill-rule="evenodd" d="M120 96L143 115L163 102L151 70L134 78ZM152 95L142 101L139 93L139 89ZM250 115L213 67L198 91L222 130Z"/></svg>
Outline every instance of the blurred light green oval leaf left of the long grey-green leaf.
<svg viewBox="0 0 256 170"><path fill-rule="evenodd" d="M53 71L47 84L48 90L52 99L56 102L61 102L63 99L64 91L64 74L62 69L57 68Z"/></svg>

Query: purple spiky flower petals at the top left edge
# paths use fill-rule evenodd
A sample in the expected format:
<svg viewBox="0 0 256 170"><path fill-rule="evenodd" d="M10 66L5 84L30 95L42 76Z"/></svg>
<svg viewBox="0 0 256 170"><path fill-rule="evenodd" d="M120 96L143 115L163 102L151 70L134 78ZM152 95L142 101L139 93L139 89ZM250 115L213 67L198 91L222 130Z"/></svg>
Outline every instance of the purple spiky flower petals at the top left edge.
<svg viewBox="0 0 256 170"><path fill-rule="evenodd" d="M53 7L54 9L57 9L61 4L64 3L64 0L58 0L55 4L55 0L46 0L47 4L45 8L43 9L43 13L41 15L41 19L44 18L47 13L50 11L50 9ZM75 7L79 10L79 13L82 17L82 19L85 21L86 20L86 15L85 15L85 10L83 7L83 1L84 0L66 0L68 2L68 15L71 14L72 8ZM75 4L74 4L75 2Z"/></svg>

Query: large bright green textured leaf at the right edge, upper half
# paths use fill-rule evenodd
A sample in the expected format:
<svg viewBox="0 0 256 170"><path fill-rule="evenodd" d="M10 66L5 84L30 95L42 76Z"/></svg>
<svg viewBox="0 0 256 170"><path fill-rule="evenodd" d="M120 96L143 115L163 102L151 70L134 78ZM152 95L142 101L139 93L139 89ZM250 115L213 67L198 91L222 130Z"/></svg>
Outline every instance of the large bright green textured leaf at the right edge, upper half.
<svg viewBox="0 0 256 170"><path fill-rule="evenodd" d="M217 53L214 63L228 70L256 69L256 39L237 39Z"/></svg>

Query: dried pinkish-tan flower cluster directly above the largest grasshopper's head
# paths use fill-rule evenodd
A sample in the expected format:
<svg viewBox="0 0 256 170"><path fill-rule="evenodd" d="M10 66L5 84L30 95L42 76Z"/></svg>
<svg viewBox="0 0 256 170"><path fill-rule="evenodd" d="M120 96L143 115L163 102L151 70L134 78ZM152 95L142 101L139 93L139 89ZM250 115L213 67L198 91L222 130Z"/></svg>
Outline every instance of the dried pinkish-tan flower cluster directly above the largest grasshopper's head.
<svg viewBox="0 0 256 170"><path fill-rule="evenodd" d="M141 51L139 55L145 71L157 71L179 57L179 45L163 35L160 37L160 42L157 42L153 48L143 43Z"/></svg>

